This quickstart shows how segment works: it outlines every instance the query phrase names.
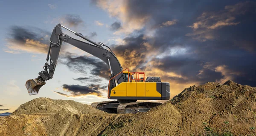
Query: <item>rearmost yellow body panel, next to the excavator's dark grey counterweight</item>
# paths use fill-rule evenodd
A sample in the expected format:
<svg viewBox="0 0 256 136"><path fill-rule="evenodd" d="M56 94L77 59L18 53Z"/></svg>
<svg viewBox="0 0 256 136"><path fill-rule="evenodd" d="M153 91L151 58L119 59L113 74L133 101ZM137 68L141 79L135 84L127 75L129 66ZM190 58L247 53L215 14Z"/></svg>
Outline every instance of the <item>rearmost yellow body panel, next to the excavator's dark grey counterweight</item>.
<svg viewBox="0 0 256 136"><path fill-rule="evenodd" d="M156 82L145 82L146 97L161 97L161 94L157 92Z"/></svg>

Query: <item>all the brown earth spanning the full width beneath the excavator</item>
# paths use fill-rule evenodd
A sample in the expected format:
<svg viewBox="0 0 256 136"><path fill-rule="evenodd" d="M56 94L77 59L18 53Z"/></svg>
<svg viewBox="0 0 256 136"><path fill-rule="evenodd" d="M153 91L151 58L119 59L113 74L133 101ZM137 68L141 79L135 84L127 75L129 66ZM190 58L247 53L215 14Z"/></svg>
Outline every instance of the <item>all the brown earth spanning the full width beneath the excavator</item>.
<svg viewBox="0 0 256 136"><path fill-rule="evenodd" d="M186 88L146 113L109 114L72 100L33 99L0 117L0 136L255 136L256 88Z"/></svg>

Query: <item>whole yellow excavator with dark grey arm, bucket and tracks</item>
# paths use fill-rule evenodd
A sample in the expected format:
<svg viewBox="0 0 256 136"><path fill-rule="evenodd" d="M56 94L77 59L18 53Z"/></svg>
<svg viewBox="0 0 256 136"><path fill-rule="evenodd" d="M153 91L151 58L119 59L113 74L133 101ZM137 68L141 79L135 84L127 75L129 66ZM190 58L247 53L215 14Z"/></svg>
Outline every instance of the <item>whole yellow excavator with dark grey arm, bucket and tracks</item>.
<svg viewBox="0 0 256 136"><path fill-rule="evenodd" d="M90 43L64 34L61 28L71 31ZM123 69L116 55L107 45L101 42L93 42L81 33L72 31L61 24L56 25L52 31L44 71L39 72L38 78L29 79L26 82L29 95L38 94L39 89L45 85L45 81L53 77L63 41L98 57L109 65L108 99L117 99L117 101L93 102L91 106L94 108L108 113L146 112L161 103L137 102L137 100L170 99L169 82L161 82L160 77L147 77L145 79L144 72L130 72L128 68Z"/></svg>

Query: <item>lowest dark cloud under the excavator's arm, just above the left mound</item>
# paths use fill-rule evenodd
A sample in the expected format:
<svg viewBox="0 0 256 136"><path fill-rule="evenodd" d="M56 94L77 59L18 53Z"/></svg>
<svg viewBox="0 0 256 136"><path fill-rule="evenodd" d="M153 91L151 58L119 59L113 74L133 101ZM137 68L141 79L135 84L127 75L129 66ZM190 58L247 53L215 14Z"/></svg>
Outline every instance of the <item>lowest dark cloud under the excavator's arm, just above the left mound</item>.
<svg viewBox="0 0 256 136"><path fill-rule="evenodd" d="M99 90L105 89L105 87L100 87L100 85L90 84L86 86L81 85L62 85L62 88L65 92L68 92L70 94L64 94L58 91L54 91L55 93L66 96L66 97L81 97L81 96L87 96L87 95L93 95L102 97L102 93Z"/></svg>

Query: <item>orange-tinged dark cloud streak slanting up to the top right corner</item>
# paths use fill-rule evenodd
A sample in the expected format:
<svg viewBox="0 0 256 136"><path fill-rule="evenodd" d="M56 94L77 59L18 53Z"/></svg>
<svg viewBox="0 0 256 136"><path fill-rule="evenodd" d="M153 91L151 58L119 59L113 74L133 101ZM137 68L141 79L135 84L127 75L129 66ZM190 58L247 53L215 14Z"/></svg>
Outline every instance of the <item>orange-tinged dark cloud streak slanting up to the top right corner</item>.
<svg viewBox="0 0 256 136"><path fill-rule="evenodd" d="M197 18L197 22L188 26L193 28L193 33L186 35L202 42L213 40L218 37L214 34L215 29L239 25L241 21L244 21L243 18L246 17L244 15L255 13L255 7L256 2L246 1L225 6L223 10L217 12L204 11L201 16Z"/></svg>

